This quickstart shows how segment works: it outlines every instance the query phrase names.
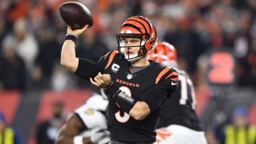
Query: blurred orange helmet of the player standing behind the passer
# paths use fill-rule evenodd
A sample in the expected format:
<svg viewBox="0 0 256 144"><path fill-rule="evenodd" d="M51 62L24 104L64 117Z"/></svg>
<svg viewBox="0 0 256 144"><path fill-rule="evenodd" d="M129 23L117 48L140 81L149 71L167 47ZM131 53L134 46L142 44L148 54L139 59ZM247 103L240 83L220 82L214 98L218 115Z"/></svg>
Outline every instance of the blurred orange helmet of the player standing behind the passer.
<svg viewBox="0 0 256 144"><path fill-rule="evenodd" d="M148 54L148 59L158 63L177 67L177 51L175 47L168 42L157 42L155 49Z"/></svg>

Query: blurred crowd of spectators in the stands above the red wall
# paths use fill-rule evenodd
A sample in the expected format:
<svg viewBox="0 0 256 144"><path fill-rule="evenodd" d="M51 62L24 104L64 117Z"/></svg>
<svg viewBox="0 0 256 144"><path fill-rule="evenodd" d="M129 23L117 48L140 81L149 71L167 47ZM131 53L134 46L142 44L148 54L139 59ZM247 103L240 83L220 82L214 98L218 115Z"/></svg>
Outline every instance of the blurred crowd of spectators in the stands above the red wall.
<svg viewBox="0 0 256 144"><path fill-rule="evenodd" d="M68 73L59 64L67 26L58 8L65 2L68 1L0 1L0 90L91 87L90 82ZM90 9L94 20L93 27L78 39L77 57L96 62L108 51L117 50L116 33L122 22L127 17L143 15L156 26L158 41L176 47L179 66L190 75L199 98L205 94L200 89L212 94L205 77L207 54L211 51L227 51L233 56L235 87L255 88L256 0L77 2Z"/></svg>

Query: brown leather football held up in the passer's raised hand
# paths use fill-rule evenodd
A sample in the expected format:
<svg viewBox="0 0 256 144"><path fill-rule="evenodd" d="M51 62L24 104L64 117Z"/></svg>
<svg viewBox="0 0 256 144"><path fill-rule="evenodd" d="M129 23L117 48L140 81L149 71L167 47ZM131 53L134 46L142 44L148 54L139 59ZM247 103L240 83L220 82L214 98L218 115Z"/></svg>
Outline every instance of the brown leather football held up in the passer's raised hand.
<svg viewBox="0 0 256 144"><path fill-rule="evenodd" d="M93 17L90 10L81 3L64 3L59 6L59 13L63 21L73 30L81 29L85 25L93 26Z"/></svg>

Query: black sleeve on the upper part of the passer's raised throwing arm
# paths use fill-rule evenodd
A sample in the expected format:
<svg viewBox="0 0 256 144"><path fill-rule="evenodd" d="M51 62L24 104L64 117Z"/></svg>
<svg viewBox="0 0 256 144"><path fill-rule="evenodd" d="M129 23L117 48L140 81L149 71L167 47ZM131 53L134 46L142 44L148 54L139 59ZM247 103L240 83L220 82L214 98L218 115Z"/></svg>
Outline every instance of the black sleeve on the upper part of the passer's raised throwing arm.
<svg viewBox="0 0 256 144"><path fill-rule="evenodd" d="M103 72L103 66L100 62L94 63L86 59L79 58L78 67L74 74L83 79L89 80Z"/></svg>

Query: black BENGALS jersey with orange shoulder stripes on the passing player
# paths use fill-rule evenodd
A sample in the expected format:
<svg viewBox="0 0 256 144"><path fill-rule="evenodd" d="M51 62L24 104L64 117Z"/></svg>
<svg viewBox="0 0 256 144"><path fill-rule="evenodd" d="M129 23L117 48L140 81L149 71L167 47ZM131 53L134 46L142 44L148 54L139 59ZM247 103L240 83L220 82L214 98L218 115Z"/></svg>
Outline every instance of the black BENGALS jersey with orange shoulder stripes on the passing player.
<svg viewBox="0 0 256 144"><path fill-rule="evenodd" d="M86 79L94 78L99 71L103 74L110 74L115 86L136 101L146 102L151 109L151 113L146 118L136 121L125 113L113 99L110 99L108 126L110 135L114 139L146 143L153 143L156 140L155 129L159 124L159 106L168 95L177 89L175 83L178 83L178 73L172 67L163 66L154 61L150 62L151 64L146 68L133 73L130 63L120 57L117 51L111 51L98 63L81 64L79 60L75 74ZM82 70L82 65L88 67L83 69L87 71ZM154 109L153 105L156 104L158 108Z"/></svg>

